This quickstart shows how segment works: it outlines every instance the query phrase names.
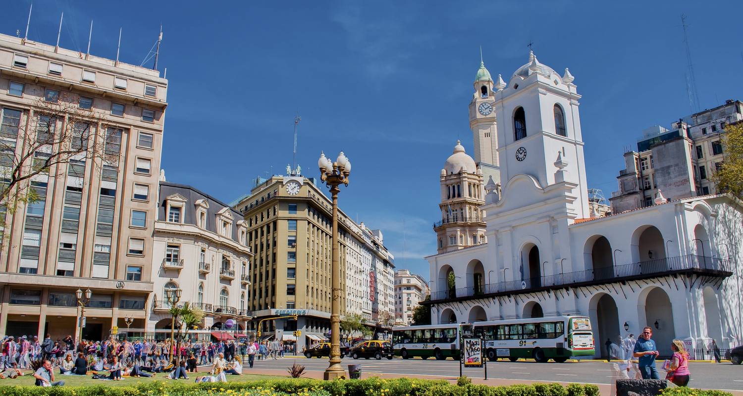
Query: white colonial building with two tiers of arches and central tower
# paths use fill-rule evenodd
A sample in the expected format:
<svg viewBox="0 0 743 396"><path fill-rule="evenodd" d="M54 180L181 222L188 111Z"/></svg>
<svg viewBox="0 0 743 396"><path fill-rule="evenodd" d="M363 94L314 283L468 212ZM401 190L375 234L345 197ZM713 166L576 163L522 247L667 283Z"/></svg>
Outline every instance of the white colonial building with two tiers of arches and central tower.
<svg viewBox="0 0 743 396"><path fill-rule="evenodd" d="M426 258L432 322L581 314L591 318L597 356L606 339L646 325L663 354L672 339L690 349L741 343L741 203L661 195L650 207L593 218L568 69L560 76L530 53L507 83L481 74L478 113L496 113L502 184L485 186L487 243Z"/></svg>

